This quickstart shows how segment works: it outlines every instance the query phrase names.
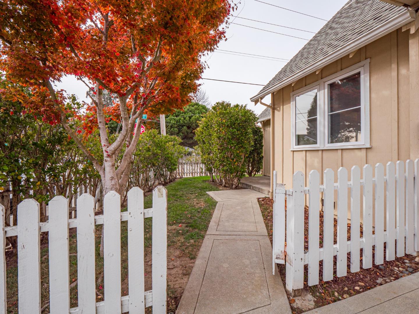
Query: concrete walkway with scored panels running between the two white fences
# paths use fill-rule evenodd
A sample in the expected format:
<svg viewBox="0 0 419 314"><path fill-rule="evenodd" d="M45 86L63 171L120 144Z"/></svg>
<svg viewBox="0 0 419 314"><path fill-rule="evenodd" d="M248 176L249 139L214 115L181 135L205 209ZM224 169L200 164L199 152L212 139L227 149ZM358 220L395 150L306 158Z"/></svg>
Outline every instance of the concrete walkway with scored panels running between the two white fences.
<svg viewBox="0 0 419 314"><path fill-rule="evenodd" d="M254 190L208 192L218 201L176 314L285 314L290 304Z"/></svg>

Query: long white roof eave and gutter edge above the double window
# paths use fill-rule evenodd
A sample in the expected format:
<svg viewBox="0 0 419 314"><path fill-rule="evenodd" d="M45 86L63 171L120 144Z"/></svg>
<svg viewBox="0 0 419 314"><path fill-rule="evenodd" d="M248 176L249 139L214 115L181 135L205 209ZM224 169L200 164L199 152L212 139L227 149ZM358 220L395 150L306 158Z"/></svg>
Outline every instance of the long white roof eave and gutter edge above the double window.
<svg viewBox="0 0 419 314"><path fill-rule="evenodd" d="M375 41L376 39L379 39L380 37L391 33L392 31L400 28L403 25L406 25L407 23L414 21L416 19L416 13L413 10L406 10L403 13L396 15L394 18L391 18L387 22L383 23L382 25L373 28L371 31L365 33L364 35L358 37L357 39L354 39L353 41L350 41L349 43L345 44L344 46L341 46L339 49L331 52L330 54L326 55L325 57L318 59L316 62L311 63L307 67L301 69L298 72L295 72L295 74L285 78L282 81L277 82L275 85L272 85L270 88L265 90L262 93L259 93L250 100L252 102L256 103L259 101L259 98L264 98L266 95L269 95L270 93L274 93L275 91L291 84L292 82L295 82L296 80L299 80L300 78L310 74L311 72L316 71L317 69L321 69L322 67L326 66L327 64L336 61L337 59L340 59L341 57L346 56L350 52L360 49L361 47L371 43L372 41Z"/></svg>

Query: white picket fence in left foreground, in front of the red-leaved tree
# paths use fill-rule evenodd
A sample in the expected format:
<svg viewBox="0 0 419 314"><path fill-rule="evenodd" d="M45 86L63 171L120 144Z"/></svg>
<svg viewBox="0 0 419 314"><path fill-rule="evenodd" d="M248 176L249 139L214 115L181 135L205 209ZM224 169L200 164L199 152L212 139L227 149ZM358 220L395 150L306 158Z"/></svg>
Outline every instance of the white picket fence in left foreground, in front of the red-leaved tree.
<svg viewBox="0 0 419 314"><path fill-rule="evenodd" d="M144 208L144 193L132 188L128 210L121 212L120 196L104 197L103 215L94 215L94 198L83 194L77 199L78 215L68 219L68 201L55 196L49 202L49 221L39 222L39 203L26 199L18 206L17 226L5 228L5 210L0 205L0 314L7 313L5 237L18 237L19 314L41 313L40 232L49 232L50 313L143 314L153 306L153 314L166 314L167 273L167 191L153 190L153 208ZM152 290L144 291L144 219L153 217ZM121 221L128 229L127 296L121 293ZM96 302L95 225L103 224L104 301ZM77 228L78 307L70 309L69 229Z"/></svg>

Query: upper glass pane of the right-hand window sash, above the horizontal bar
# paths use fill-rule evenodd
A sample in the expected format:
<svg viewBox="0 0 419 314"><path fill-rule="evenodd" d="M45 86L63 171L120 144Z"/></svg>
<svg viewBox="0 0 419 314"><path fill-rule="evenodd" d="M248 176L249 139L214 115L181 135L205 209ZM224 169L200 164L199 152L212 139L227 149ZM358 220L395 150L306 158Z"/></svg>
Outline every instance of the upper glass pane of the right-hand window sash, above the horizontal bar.
<svg viewBox="0 0 419 314"><path fill-rule="evenodd" d="M329 113L361 106L361 74L329 84Z"/></svg>

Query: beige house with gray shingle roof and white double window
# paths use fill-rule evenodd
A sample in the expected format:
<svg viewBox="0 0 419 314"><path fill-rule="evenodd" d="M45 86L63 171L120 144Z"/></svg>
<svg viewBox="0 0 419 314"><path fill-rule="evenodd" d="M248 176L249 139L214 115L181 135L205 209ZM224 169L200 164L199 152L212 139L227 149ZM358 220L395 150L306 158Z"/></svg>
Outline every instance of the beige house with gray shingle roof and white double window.
<svg viewBox="0 0 419 314"><path fill-rule="evenodd" d="M417 1L349 0L251 98L271 111L265 175L277 170L291 187L298 170L307 184L310 170L337 177L339 167L419 157Z"/></svg>

